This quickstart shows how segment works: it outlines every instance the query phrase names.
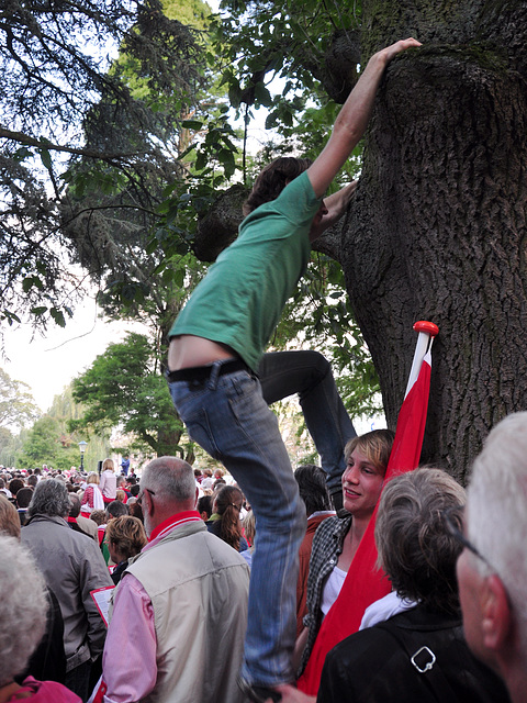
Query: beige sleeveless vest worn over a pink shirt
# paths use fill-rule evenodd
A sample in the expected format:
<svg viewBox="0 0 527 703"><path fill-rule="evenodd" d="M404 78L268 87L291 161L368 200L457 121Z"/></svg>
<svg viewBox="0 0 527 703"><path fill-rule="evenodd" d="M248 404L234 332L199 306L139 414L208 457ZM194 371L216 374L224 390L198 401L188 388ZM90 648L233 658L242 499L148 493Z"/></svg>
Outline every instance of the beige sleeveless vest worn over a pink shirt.
<svg viewBox="0 0 527 703"><path fill-rule="evenodd" d="M154 703L242 703L249 569L204 523L172 529L127 572L148 593L158 643Z"/></svg>

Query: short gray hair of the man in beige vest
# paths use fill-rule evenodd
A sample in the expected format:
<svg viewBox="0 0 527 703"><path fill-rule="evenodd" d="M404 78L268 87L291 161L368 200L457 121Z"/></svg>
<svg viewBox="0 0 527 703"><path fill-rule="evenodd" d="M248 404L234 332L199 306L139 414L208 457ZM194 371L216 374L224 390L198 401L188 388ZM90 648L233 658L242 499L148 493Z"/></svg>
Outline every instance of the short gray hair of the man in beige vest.
<svg viewBox="0 0 527 703"><path fill-rule="evenodd" d="M195 479L190 464L176 457L154 459L143 471L142 490L148 487L160 502L194 500Z"/></svg>

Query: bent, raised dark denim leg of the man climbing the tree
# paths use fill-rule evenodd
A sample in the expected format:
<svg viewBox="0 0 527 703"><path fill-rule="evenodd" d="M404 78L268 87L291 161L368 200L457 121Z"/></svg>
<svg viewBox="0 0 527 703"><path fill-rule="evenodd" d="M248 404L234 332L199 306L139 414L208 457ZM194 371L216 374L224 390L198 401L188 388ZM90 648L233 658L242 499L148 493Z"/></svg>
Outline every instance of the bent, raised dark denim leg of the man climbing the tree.
<svg viewBox="0 0 527 703"><path fill-rule="evenodd" d="M344 448L357 433L338 394L329 361L318 352L272 352L264 355L258 375L269 404L299 393L329 493L339 491L346 468Z"/></svg>

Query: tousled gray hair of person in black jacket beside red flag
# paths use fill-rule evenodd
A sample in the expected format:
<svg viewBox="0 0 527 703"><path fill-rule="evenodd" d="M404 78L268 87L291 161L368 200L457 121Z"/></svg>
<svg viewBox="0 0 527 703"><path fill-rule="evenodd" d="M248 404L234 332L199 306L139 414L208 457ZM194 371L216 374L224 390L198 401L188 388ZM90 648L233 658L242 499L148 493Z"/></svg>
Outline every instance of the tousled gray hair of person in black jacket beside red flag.
<svg viewBox="0 0 527 703"><path fill-rule="evenodd" d="M375 522L379 563L402 598L458 611L456 562L462 546L444 513L462 507L464 500L463 488L440 469L408 471L384 487Z"/></svg>

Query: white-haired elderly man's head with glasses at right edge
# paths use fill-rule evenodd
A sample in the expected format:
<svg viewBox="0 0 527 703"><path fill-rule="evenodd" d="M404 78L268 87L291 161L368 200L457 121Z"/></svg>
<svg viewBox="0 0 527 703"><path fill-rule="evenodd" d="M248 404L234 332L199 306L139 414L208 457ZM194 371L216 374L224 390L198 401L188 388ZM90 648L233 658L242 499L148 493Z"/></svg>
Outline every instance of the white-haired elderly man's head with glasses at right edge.
<svg viewBox="0 0 527 703"><path fill-rule="evenodd" d="M527 701L527 412L503 420L474 461L458 582L472 652Z"/></svg>

